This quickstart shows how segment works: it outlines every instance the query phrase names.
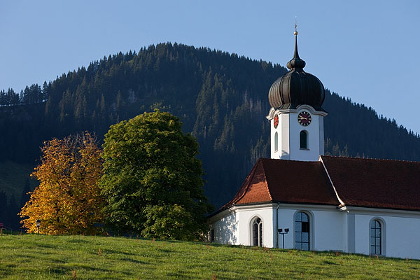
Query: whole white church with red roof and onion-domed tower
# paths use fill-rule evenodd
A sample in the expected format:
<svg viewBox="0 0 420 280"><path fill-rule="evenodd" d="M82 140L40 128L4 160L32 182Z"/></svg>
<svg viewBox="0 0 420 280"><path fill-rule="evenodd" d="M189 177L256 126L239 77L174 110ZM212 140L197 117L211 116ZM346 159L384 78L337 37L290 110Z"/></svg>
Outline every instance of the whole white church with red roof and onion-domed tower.
<svg viewBox="0 0 420 280"><path fill-rule="evenodd" d="M271 158L209 216L209 241L420 259L420 162L323 155L325 89L304 66L295 31L268 93Z"/></svg>

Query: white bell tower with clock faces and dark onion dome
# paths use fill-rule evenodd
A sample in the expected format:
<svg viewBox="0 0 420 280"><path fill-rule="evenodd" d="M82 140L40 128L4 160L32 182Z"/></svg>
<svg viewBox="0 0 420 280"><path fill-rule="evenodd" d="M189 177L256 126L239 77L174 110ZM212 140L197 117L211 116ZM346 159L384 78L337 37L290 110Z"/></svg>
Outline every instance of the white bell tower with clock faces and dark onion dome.
<svg viewBox="0 0 420 280"><path fill-rule="evenodd" d="M324 153L322 104L325 89L321 80L303 70L306 62L297 52L287 63L289 71L274 81L268 100L271 127L271 158L318 161Z"/></svg>

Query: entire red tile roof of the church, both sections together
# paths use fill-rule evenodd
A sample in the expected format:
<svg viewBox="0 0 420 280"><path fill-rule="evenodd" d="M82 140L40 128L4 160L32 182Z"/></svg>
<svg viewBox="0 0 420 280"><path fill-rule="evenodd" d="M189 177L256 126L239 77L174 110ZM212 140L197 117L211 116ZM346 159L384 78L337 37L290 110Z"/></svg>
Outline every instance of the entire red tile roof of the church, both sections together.
<svg viewBox="0 0 420 280"><path fill-rule="evenodd" d="M337 195L346 206L420 211L420 162L321 158L322 162L259 159L233 200L219 211L262 202L339 206Z"/></svg>

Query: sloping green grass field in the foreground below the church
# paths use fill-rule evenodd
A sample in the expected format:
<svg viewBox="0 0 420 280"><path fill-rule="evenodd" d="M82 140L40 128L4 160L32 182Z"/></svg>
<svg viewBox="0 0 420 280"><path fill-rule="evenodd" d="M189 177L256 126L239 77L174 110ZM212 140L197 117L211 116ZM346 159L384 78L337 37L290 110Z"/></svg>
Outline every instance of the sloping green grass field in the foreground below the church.
<svg viewBox="0 0 420 280"><path fill-rule="evenodd" d="M420 279L419 260L199 242L0 236L0 279Z"/></svg>

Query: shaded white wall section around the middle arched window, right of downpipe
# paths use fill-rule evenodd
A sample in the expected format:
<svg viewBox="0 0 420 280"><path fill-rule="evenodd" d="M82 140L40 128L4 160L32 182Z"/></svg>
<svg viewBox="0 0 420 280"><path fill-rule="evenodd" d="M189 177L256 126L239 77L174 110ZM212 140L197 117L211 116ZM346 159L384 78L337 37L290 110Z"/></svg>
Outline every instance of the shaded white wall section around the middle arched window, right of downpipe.
<svg viewBox="0 0 420 280"><path fill-rule="evenodd" d="M281 204L279 207L278 227L290 230L284 236L284 248L295 248L295 214L298 211L309 215L311 250L344 251L344 214L336 207L306 204ZM279 235L279 248L282 245L282 237Z"/></svg>

